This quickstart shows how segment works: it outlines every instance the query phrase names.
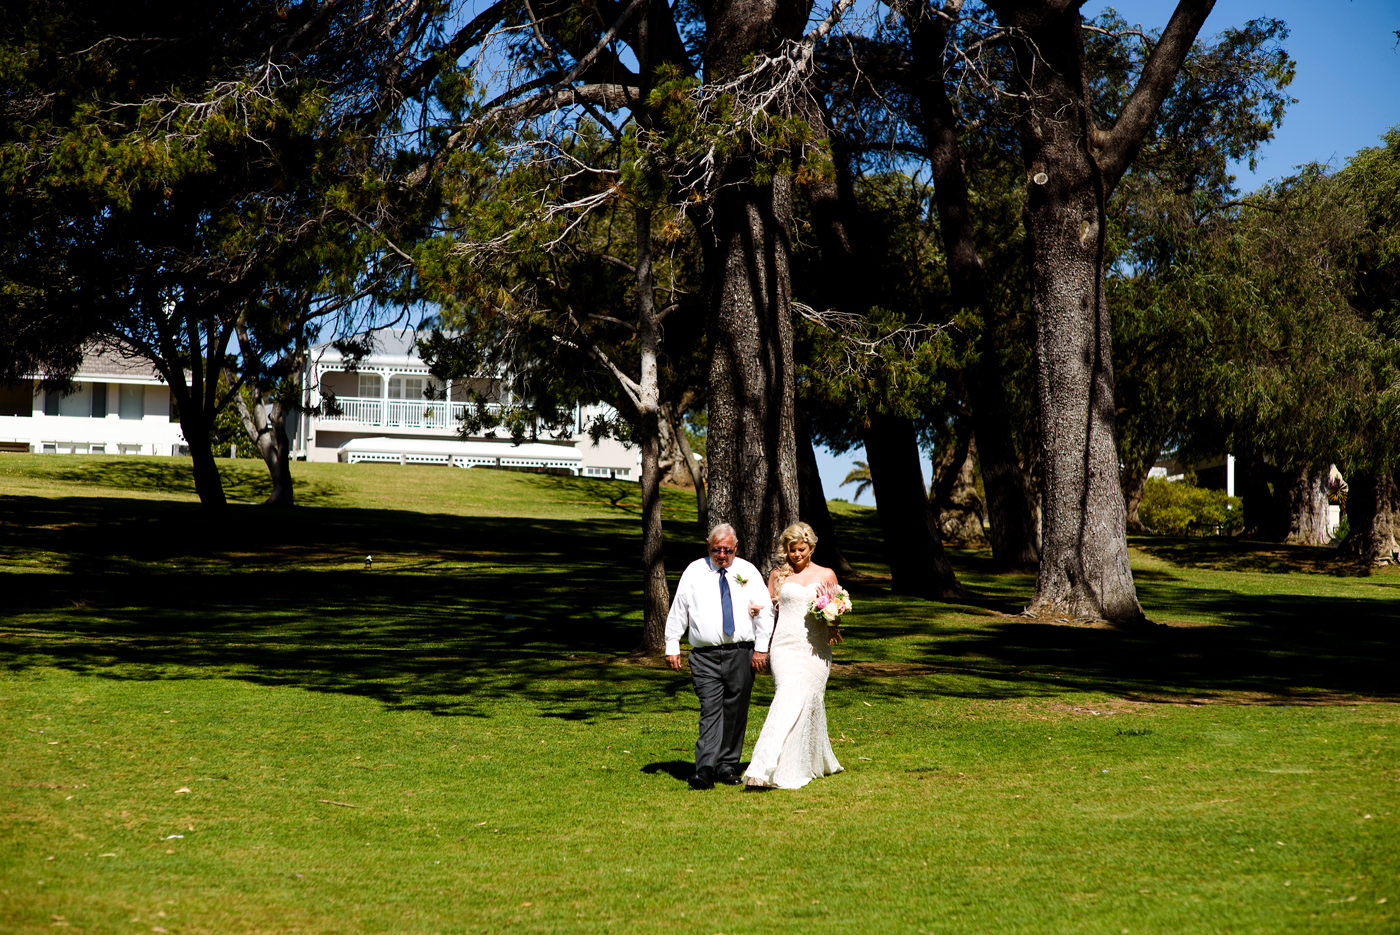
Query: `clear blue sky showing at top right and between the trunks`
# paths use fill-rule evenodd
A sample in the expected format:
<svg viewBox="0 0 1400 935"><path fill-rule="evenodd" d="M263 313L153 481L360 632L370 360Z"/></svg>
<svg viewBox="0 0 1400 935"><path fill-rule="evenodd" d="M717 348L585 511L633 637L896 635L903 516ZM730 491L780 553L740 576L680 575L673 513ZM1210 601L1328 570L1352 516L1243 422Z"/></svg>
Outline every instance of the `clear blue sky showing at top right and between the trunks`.
<svg viewBox="0 0 1400 935"><path fill-rule="evenodd" d="M1158 0L1120 0L1084 4L1086 17L1113 7L1128 22L1162 28L1175 4ZM1379 146L1380 134L1400 125L1400 0L1219 0L1203 36L1240 25L1256 17L1275 17L1288 24L1284 49L1298 71L1284 123L1257 158L1257 169L1236 167L1242 190L1253 190L1294 172L1308 162L1341 168L1358 150ZM844 455L818 449L822 487L829 498L851 500L855 490L840 487L862 449ZM928 465L924 466L925 473ZM925 476L925 481L928 477ZM855 502L872 504L867 493Z"/></svg>

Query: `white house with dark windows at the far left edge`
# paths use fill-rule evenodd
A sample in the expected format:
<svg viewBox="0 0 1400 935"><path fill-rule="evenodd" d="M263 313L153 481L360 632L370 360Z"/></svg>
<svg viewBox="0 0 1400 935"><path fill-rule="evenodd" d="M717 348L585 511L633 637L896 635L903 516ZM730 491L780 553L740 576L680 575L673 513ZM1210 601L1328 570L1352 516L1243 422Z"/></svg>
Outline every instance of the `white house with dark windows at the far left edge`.
<svg viewBox="0 0 1400 935"><path fill-rule="evenodd" d="M0 451L183 455L169 389L141 361L90 350L69 395L0 384Z"/></svg>

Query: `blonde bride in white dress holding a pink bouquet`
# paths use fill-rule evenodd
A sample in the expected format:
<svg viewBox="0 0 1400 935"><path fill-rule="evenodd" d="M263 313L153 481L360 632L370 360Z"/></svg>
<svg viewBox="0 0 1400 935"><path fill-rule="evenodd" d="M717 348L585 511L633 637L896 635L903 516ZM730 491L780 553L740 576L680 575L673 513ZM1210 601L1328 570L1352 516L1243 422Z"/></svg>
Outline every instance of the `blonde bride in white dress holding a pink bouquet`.
<svg viewBox="0 0 1400 935"><path fill-rule="evenodd" d="M774 693L743 771L748 788L799 789L818 775L841 771L826 733L833 628L808 613L818 593L832 595L839 585L830 568L812 564L815 547L816 533L805 522L792 523L778 539L787 561L769 577L769 593L778 606L767 658Z"/></svg>

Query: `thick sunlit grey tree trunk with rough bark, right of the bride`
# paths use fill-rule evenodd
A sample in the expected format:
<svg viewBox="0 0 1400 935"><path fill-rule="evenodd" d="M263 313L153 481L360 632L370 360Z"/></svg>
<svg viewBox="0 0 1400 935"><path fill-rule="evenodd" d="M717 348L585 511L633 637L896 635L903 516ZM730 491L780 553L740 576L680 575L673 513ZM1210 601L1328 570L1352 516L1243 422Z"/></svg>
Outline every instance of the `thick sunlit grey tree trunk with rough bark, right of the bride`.
<svg viewBox="0 0 1400 935"><path fill-rule="evenodd" d="M1145 620L1128 565L1114 444L1113 353L1103 295L1107 199L1088 141L1077 4L997 4L1029 94L1022 119L1044 462L1032 616Z"/></svg>

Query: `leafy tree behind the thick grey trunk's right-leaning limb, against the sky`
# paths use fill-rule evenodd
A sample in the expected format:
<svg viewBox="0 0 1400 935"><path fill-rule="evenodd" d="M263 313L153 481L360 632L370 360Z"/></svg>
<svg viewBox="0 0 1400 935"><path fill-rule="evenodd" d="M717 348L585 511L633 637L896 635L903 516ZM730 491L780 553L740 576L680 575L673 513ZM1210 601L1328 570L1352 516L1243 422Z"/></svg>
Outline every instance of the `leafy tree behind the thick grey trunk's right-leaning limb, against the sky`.
<svg viewBox="0 0 1400 935"><path fill-rule="evenodd" d="M1107 295L1114 307L1113 363L1121 487L1130 529L1163 445L1189 442L1197 384L1210 358L1198 312L1173 288L1211 220L1238 197L1232 162L1252 161L1284 116L1294 63L1287 25L1254 20L1197 43L1109 204ZM1151 35L1105 14L1086 34L1095 87L1107 111L1123 106L1128 76Z"/></svg>

